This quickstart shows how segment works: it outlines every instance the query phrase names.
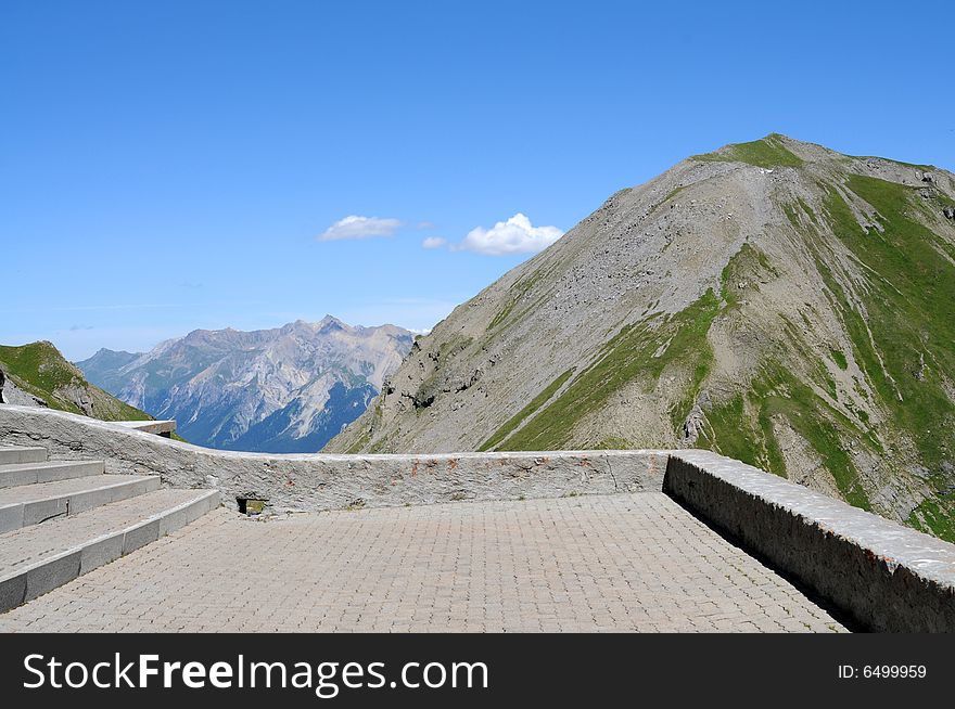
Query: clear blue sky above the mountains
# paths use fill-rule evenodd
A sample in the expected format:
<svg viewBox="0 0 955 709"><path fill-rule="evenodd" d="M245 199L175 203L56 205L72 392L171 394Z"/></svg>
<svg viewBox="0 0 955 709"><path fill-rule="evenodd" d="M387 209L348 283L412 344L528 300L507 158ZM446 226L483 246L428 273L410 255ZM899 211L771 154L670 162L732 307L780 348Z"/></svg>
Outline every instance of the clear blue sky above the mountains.
<svg viewBox="0 0 955 709"><path fill-rule="evenodd" d="M952 169L951 11L904 8L7 0L0 343L426 328L508 252L772 131Z"/></svg>

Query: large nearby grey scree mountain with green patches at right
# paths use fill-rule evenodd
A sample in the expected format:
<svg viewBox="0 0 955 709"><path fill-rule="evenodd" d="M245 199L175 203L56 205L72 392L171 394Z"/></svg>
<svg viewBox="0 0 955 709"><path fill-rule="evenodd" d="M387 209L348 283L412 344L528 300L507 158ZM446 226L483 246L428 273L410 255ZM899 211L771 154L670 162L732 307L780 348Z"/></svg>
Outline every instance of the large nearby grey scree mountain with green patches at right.
<svg viewBox="0 0 955 709"><path fill-rule="evenodd" d="M772 134L611 196L329 451L709 448L955 538L955 178Z"/></svg>

